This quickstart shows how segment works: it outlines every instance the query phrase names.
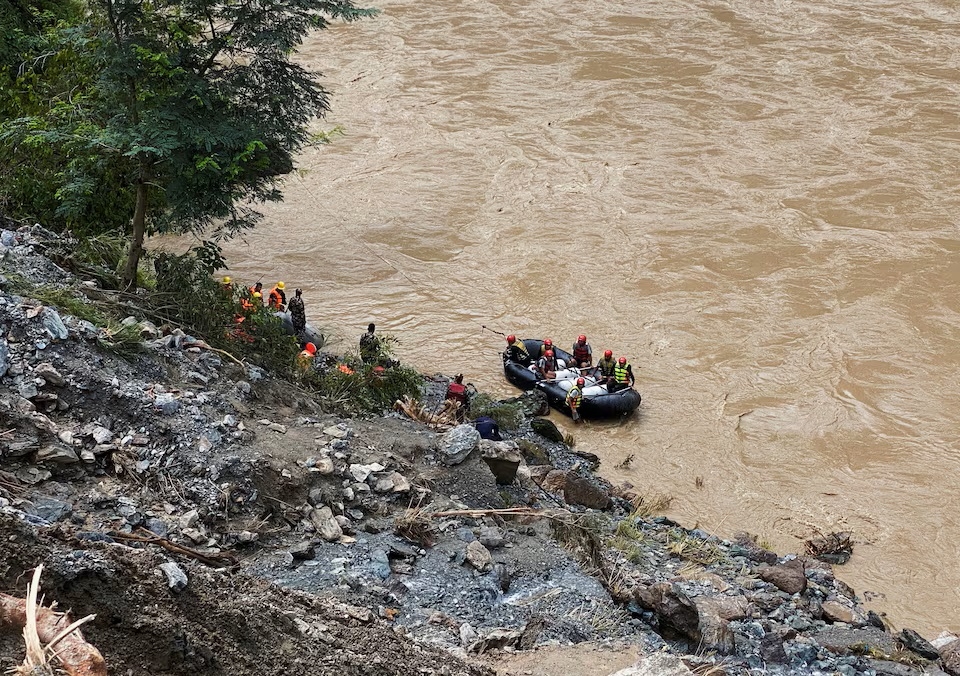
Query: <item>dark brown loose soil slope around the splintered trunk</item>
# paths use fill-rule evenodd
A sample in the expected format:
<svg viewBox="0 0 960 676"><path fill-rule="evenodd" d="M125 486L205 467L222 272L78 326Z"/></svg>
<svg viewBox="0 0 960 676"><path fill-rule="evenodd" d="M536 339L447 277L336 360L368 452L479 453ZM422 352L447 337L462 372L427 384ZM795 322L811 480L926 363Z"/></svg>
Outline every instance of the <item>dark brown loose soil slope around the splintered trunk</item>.
<svg viewBox="0 0 960 676"><path fill-rule="evenodd" d="M35 535L0 515L0 589L22 596L28 571L45 565L42 592L75 617L112 674L463 674L490 676L395 632L360 608L280 589L262 580L178 561L190 578L172 592L151 550L79 541L67 528ZM0 636L4 666L23 657L17 635Z"/></svg>

